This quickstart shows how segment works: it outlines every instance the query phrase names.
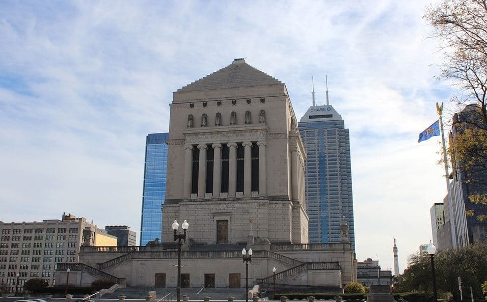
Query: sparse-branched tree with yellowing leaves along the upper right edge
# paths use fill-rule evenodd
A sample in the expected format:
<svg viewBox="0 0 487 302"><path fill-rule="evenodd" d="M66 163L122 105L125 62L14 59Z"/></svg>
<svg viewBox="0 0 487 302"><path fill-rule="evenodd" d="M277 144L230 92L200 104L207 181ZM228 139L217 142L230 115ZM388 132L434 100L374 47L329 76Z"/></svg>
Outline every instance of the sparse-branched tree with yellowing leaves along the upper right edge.
<svg viewBox="0 0 487 302"><path fill-rule="evenodd" d="M450 142L452 168L467 175L475 186L487 186L487 0L444 0L430 6L424 18L441 41L444 60L440 79L453 81L461 96L453 101L463 108L475 104L468 119L456 124L459 131ZM485 191L468 196L487 204ZM479 216L483 219L485 216Z"/></svg>

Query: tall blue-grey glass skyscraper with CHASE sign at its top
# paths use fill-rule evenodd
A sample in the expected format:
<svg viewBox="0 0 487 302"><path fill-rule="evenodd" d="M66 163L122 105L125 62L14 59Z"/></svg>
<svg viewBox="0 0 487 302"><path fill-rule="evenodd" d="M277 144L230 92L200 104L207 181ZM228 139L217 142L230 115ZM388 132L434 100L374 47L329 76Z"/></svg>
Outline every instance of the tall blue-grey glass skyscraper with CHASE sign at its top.
<svg viewBox="0 0 487 302"><path fill-rule="evenodd" d="M309 242L340 242L340 222L355 249L350 138L333 106L311 106L298 124L306 148L306 211Z"/></svg>

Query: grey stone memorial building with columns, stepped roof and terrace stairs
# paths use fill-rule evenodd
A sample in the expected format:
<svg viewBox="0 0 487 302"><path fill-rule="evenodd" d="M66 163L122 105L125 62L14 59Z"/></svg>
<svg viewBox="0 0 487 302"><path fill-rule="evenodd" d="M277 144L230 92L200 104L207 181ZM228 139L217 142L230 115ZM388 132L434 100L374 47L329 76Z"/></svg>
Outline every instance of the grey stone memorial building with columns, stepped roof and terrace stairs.
<svg viewBox="0 0 487 302"><path fill-rule="evenodd" d="M170 104L163 238L147 246L81 246L69 282L106 278L175 287L171 225L189 224L182 287L245 287L243 248L254 251L252 285L339 290L356 281L348 228L342 240L308 243L306 152L286 86L244 59L178 89ZM58 284L66 282L58 264ZM73 277L74 276L74 277Z"/></svg>

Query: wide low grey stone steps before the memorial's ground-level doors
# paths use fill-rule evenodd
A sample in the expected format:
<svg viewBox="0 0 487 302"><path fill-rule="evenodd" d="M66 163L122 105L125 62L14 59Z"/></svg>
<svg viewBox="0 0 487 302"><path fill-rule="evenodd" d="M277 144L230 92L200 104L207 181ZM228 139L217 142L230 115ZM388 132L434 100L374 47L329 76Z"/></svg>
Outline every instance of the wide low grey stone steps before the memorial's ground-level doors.
<svg viewBox="0 0 487 302"><path fill-rule="evenodd" d="M156 293L156 300L176 299L175 287L125 287L113 293L106 293L101 298L118 299L118 296L123 294L126 299L145 299L147 293L152 290ZM235 297L235 300L245 300L245 288L181 288L181 301L183 295L189 296L190 300L203 300L205 296L210 296L211 300L228 300L228 296Z"/></svg>

